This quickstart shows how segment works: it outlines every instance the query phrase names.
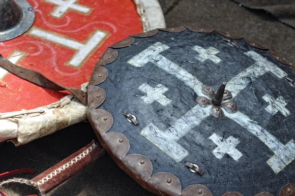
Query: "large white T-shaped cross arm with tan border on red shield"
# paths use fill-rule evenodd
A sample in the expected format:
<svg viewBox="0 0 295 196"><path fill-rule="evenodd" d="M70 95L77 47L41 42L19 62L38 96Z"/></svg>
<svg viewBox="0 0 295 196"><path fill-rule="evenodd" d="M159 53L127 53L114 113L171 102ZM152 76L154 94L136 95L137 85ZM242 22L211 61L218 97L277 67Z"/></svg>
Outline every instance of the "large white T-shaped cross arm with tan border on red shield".
<svg viewBox="0 0 295 196"><path fill-rule="evenodd" d="M88 57L101 45L102 41L108 36L108 33L97 29L90 34L87 40L85 40L84 42L80 42L64 35L45 31L37 27L32 27L29 30L28 34L37 38L54 42L70 49L74 49L76 51L75 54L70 60L66 62L66 65L70 65L74 68L80 68L83 65L84 61L88 59Z"/></svg>

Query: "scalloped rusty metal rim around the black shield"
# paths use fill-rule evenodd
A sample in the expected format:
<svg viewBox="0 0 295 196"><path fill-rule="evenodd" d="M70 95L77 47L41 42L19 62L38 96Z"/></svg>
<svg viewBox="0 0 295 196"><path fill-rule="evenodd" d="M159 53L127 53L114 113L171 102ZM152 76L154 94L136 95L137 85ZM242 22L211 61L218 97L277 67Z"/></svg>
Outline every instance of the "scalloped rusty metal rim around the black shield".
<svg viewBox="0 0 295 196"><path fill-rule="evenodd" d="M102 104L103 98L101 96L97 96L100 93L90 93L90 91L99 92L103 89L96 87L95 85L102 83L107 77L107 71L105 69L100 68L101 65L107 65L115 61L118 57L118 52L113 48L123 48L132 45L135 42L133 37L141 38L141 37L151 37L158 33L158 31L164 32L182 32L186 29L200 32L200 33L212 33L216 30L214 29L200 29L200 28L186 28L186 27L177 27L177 28L165 28L165 29L156 29L146 33L134 34L129 36L128 38L110 46L100 61L96 64L93 74L91 76L89 86L88 86L88 110L87 115L89 122L100 142L100 144L106 149L106 151L110 154L112 159L118 164L118 166L123 169L129 176L131 176L137 183L139 183L142 187L147 189L148 191L156 194L156 195L171 195L171 196L212 196L210 190L204 185L195 184L188 186L182 190L180 181L178 178L168 172L159 172L152 175L152 163L150 160L140 154L129 154L130 144L128 138L119 132L108 132L114 122L112 114L104 109L99 109L99 105ZM287 63L286 61L276 58L277 56L274 53L263 46L260 46L254 42L248 41L242 37L231 35L229 33L224 33L221 31L216 31L217 33L226 36L232 39L243 39L249 45L268 50L272 57L274 57L277 61L291 66L293 72L295 72L294 66ZM132 39L132 38L133 39ZM100 79L104 75L103 79ZM100 77L98 77L100 76ZM104 91L103 91L104 92ZM105 92L104 92L105 93ZM97 100L95 100L97 99ZM93 104L91 104L93 102ZM281 189L279 196L294 196L295 194L295 184L287 184ZM228 192L223 196L242 196L237 192ZM257 196L272 196L269 193L262 192Z"/></svg>

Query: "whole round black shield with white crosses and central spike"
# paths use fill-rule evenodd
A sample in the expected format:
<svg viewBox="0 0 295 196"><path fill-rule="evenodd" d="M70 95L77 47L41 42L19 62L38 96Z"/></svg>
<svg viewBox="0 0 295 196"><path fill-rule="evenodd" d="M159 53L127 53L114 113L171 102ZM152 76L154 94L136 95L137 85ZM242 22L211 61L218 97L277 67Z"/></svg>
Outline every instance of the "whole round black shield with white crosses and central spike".
<svg viewBox="0 0 295 196"><path fill-rule="evenodd" d="M95 66L89 121L157 195L278 195L295 183L294 79L288 63L241 37L154 30L111 46Z"/></svg>

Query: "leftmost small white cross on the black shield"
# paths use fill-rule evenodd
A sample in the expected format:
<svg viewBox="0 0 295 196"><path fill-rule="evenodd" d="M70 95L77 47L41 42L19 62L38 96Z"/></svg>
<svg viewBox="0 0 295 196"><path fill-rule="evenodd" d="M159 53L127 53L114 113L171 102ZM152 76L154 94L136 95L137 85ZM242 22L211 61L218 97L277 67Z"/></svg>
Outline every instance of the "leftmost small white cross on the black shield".
<svg viewBox="0 0 295 196"><path fill-rule="evenodd" d="M142 84L138 89L147 94L142 97L144 102L147 104L158 101L160 104L166 106L171 102L169 98L163 95L166 91L168 91L168 88L162 84L158 84L155 88L152 88L148 84Z"/></svg>

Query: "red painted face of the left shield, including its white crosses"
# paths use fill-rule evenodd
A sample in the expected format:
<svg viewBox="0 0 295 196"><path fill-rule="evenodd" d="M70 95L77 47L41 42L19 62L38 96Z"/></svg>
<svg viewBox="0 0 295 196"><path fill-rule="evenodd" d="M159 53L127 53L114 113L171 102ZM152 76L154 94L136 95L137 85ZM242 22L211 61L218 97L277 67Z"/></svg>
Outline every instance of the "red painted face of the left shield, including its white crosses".
<svg viewBox="0 0 295 196"><path fill-rule="evenodd" d="M33 26L1 42L0 54L63 86L81 88L109 45L143 31L133 0L28 1L36 15ZM35 86L2 68L0 89L1 113L36 108L68 95Z"/></svg>

